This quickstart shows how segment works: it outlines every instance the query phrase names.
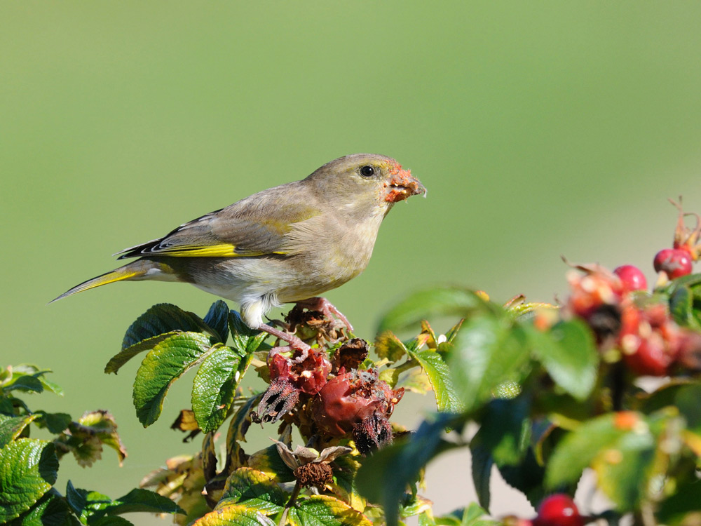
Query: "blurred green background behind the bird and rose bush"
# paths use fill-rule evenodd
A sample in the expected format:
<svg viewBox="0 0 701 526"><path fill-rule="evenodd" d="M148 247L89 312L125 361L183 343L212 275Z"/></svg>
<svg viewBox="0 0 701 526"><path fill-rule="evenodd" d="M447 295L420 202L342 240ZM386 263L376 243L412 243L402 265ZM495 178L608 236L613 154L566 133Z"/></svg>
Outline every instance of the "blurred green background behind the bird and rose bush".
<svg viewBox="0 0 701 526"><path fill-rule="evenodd" d="M359 335L437 283L552 301L560 255L652 279L667 197L701 211L700 22L697 2L1 3L0 361L55 371L66 396L32 407L111 410L130 454L67 459L60 485L118 497L196 449L168 429L191 377L144 430L137 363L102 368L151 304L203 314L215 297L126 283L46 303L113 252L338 156L393 156L428 188L328 295ZM415 425L410 400L400 419ZM439 511L470 498L467 461L451 462L448 485L429 472Z"/></svg>

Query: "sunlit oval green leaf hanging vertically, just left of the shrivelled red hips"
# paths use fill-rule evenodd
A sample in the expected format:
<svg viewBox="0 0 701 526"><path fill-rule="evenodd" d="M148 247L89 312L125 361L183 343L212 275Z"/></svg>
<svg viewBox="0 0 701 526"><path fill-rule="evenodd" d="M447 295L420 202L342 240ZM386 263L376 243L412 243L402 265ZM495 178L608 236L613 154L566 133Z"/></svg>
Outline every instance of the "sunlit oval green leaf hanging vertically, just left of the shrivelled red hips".
<svg viewBox="0 0 701 526"><path fill-rule="evenodd" d="M205 433L222 425L229 412L241 375L236 349L219 347L203 361L192 385L192 410Z"/></svg>

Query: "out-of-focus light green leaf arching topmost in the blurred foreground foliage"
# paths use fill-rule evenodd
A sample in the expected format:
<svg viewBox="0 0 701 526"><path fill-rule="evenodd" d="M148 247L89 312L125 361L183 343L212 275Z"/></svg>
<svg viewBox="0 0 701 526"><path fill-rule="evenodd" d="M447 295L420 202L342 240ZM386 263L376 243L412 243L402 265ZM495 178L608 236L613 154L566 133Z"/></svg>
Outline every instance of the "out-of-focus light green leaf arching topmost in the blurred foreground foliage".
<svg viewBox="0 0 701 526"><path fill-rule="evenodd" d="M390 309L377 328L381 334L386 330L400 331L421 320L437 316L470 316L475 312L489 311L488 302L464 288L437 287L414 292Z"/></svg>

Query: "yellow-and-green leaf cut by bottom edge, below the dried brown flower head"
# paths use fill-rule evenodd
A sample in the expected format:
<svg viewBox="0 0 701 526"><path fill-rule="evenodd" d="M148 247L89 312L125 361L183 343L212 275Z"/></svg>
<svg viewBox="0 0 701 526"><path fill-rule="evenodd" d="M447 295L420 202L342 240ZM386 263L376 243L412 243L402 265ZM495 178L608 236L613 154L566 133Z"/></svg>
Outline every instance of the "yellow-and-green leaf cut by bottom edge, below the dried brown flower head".
<svg viewBox="0 0 701 526"><path fill-rule="evenodd" d="M287 520L292 526L372 526L365 515L327 495L297 501Z"/></svg>

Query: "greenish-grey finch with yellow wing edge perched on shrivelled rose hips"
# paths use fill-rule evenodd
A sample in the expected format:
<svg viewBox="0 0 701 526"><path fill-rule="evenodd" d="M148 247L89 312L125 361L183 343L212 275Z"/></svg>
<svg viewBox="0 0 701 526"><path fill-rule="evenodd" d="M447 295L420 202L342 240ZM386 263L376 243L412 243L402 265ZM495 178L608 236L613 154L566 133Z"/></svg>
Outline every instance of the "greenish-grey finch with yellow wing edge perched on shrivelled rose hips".
<svg viewBox="0 0 701 526"><path fill-rule="evenodd" d="M135 261L84 281L52 302L116 281L175 281L240 305L243 322L289 349L299 337L264 323L273 308L297 303L348 320L324 292L358 276L393 205L426 188L391 157L352 154L303 180L281 184L182 224L115 255Z"/></svg>

